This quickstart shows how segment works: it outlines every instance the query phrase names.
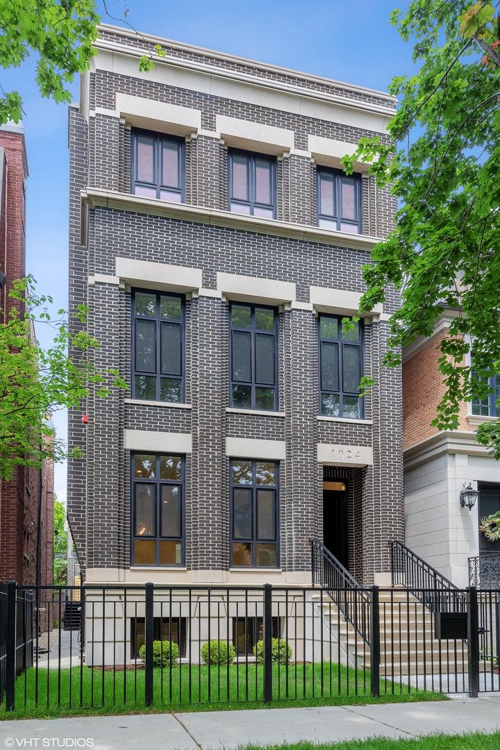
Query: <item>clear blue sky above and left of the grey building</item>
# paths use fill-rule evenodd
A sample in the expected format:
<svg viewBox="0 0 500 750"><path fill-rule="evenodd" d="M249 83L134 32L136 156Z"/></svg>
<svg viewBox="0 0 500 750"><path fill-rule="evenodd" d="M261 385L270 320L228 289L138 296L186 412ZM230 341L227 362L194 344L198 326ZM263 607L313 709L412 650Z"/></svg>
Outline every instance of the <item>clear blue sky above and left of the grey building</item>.
<svg viewBox="0 0 500 750"><path fill-rule="evenodd" d="M101 0L98 0L103 10ZM389 26L396 0L109 0L107 23L220 49L298 71L386 90L395 75L412 72L412 47ZM406 7L407 2L399 7ZM40 293L67 308L67 107L42 99L34 59L2 71L1 86L22 96L28 150L27 270ZM78 82L71 87L78 99ZM42 344L49 338L37 327ZM64 414L55 415L65 437ZM65 499L65 466L55 472Z"/></svg>

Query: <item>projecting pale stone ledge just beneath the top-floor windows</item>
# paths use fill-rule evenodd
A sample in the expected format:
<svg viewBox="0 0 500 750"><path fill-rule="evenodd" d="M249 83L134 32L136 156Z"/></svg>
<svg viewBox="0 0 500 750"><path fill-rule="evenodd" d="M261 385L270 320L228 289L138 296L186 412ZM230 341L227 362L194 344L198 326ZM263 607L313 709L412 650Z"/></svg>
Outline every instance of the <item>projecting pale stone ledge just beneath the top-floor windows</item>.
<svg viewBox="0 0 500 750"><path fill-rule="evenodd" d="M341 248L354 248L370 252L377 242L377 237L364 235L353 235L346 232L333 232L322 229L319 226L304 226L286 221L274 219L263 219L258 216L245 216L244 214L233 214L231 211L218 211L215 208L202 208L197 205L186 203L171 203L166 200L145 198L131 195L130 193L118 193L114 190L101 190L97 187L88 187L82 190L82 245L87 245L86 239L86 216L88 209L96 206L116 208L120 211L134 211L139 214L150 214L153 216L164 216L180 219L183 221L196 221L197 223L211 224L212 226L223 226L229 229L239 229L241 232L256 232L277 237L288 237L290 239L303 240L304 242L321 242L325 245L335 245Z"/></svg>

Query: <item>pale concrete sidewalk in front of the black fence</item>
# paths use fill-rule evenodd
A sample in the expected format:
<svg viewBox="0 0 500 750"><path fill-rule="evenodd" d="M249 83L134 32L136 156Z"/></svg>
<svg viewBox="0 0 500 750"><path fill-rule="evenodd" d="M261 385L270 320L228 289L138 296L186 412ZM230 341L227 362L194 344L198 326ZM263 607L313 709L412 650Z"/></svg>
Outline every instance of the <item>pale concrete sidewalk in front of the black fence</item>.
<svg viewBox="0 0 500 750"><path fill-rule="evenodd" d="M462 734L496 730L500 730L498 694L476 699L455 697L449 702L382 706L0 721L0 750L4 747L208 750L238 748L250 742L258 745L301 739L340 742L373 736L409 738L436 732Z"/></svg>

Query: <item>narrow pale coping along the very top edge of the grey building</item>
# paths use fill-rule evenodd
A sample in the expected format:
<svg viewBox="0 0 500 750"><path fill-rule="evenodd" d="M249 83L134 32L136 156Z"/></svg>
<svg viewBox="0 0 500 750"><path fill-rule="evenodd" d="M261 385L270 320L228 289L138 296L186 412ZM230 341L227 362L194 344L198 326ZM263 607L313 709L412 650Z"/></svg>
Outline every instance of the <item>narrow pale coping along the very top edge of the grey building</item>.
<svg viewBox="0 0 500 750"><path fill-rule="evenodd" d="M295 71L293 68L283 68L280 65L272 65L268 62L259 62L258 60L253 60L251 58L241 57L240 55L232 55L229 52L220 52L220 50L217 49L209 49L208 47L202 47L197 46L195 44L189 44L187 42L178 42L172 39L165 39L164 37L158 37L155 34L138 34L136 31L130 31L127 28L122 28L121 26L113 26L112 24L103 23L100 24L99 28L103 28L103 30L109 31L110 33L114 34L120 34L124 37L129 37L133 40L143 40L148 43L152 44L163 44L163 45L169 45L169 46L175 46L179 50L185 50L186 52L194 52L195 54L199 54L200 52L203 55L206 55L207 57L213 57L215 59L223 59L227 62L234 62L238 65L244 65L247 68L255 68L256 73L257 71L262 71L262 73L265 73L265 71L274 71L274 73L284 75L284 76L291 76L294 78L298 78L304 81L304 83L319 83L323 86L341 86L343 89L346 89L347 91L351 91L353 93L358 94L364 94L367 96L378 96L381 99L385 99L388 102L388 109L391 109L394 113L395 107L397 105L397 98L395 96L392 96L391 94L388 94L388 92L382 92L378 89L369 89L367 86L357 86L355 83L345 83L343 81L337 81L332 78L325 78L324 76L316 76L314 74L308 74L304 73L304 71ZM97 41L94 43L94 46L99 48L101 45L104 45L106 42L102 38L98 38ZM107 42L109 44L109 42ZM129 50L131 49L128 45L122 45L125 49ZM133 49L133 48L132 48ZM139 52L139 55L142 55L142 52ZM157 58L157 62L162 62L165 58ZM175 57L173 58L176 62L189 62L185 61ZM156 62L156 61L155 61ZM199 63L199 66L206 69L208 68L208 65L204 63ZM220 67L213 67L218 73L220 72L226 72L221 71ZM259 78L263 78L262 76ZM264 79L267 82L267 79Z"/></svg>

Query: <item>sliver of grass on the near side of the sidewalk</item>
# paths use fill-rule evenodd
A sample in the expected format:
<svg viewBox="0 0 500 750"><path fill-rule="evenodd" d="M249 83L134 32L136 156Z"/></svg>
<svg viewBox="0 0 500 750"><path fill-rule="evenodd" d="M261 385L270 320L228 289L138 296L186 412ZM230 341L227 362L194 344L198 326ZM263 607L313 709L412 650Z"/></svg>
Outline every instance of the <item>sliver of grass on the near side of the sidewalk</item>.
<svg viewBox="0 0 500 750"><path fill-rule="evenodd" d="M296 745L267 745L265 750L498 750L500 732L494 734L433 734L421 739L353 739L350 742L298 742ZM262 750L262 745L245 745L241 750Z"/></svg>

